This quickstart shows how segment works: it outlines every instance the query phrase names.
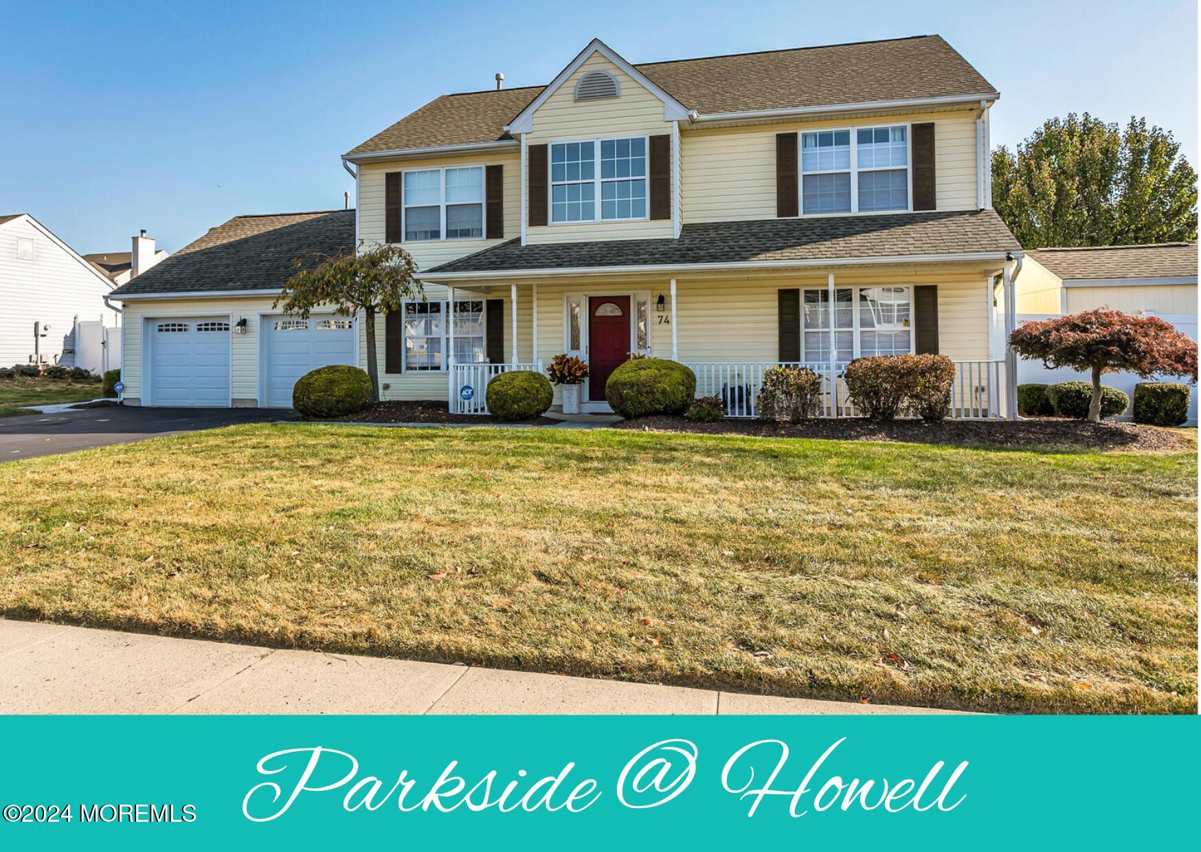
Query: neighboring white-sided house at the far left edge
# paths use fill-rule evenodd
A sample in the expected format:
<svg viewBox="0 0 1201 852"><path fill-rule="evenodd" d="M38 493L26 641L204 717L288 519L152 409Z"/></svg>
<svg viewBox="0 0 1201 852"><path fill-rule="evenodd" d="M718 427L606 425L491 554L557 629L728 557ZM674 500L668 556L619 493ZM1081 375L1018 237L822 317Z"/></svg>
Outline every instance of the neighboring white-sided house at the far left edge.
<svg viewBox="0 0 1201 852"><path fill-rule="evenodd" d="M0 364L74 364L77 322L120 320L104 304L113 286L28 213L0 216Z"/></svg>

